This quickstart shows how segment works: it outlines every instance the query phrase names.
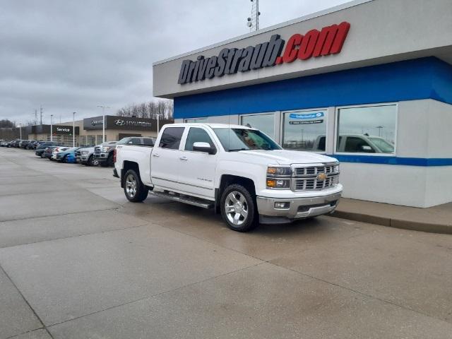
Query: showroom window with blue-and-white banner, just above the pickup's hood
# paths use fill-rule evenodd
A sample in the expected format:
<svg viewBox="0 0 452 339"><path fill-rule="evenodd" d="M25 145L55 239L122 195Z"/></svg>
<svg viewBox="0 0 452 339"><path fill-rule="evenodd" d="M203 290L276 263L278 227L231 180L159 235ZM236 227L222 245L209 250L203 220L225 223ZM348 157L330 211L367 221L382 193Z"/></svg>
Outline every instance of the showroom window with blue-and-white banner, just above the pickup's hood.
<svg viewBox="0 0 452 339"><path fill-rule="evenodd" d="M283 113L283 148L325 152L326 109Z"/></svg>

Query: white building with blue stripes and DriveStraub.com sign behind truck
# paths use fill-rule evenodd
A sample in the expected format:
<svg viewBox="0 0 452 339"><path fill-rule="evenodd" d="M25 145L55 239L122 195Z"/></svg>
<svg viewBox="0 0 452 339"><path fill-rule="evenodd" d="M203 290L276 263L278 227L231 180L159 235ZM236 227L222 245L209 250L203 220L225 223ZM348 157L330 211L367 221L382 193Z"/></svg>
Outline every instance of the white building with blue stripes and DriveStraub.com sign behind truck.
<svg viewBox="0 0 452 339"><path fill-rule="evenodd" d="M451 0L351 1L157 61L154 95L174 99L176 122L336 157L347 198L448 203L451 18Z"/></svg>

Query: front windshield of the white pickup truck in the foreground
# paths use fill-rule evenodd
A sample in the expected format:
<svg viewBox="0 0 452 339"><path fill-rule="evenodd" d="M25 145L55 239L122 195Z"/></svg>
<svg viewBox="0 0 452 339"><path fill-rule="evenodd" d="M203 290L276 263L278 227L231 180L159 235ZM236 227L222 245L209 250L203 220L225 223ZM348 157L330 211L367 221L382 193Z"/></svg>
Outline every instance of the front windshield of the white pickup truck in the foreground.
<svg viewBox="0 0 452 339"><path fill-rule="evenodd" d="M280 150L280 146L255 129L213 129L227 152L238 150Z"/></svg>

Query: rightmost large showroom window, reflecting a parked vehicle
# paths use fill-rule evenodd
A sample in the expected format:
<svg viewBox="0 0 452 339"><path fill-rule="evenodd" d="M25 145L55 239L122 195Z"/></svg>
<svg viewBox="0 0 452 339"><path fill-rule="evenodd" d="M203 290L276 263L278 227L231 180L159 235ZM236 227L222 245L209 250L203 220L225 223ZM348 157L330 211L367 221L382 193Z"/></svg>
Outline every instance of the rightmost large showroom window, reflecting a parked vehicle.
<svg viewBox="0 0 452 339"><path fill-rule="evenodd" d="M338 108L336 152L393 154L397 105Z"/></svg>

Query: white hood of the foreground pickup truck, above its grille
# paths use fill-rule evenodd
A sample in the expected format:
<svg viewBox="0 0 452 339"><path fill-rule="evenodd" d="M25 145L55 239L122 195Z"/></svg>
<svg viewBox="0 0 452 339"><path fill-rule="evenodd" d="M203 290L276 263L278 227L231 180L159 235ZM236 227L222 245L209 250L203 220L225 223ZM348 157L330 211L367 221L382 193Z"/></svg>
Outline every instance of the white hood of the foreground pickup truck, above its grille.
<svg viewBox="0 0 452 339"><path fill-rule="evenodd" d="M275 165L309 164L319 162L336 162L334 157L327 157L299 150L241 150L238 152L246 157L256 157L259 160ZM257 160L257 159L256 159Z"/></svg>

